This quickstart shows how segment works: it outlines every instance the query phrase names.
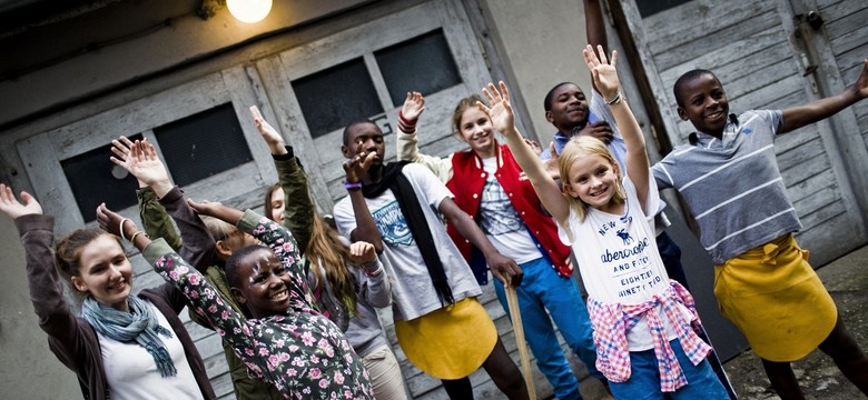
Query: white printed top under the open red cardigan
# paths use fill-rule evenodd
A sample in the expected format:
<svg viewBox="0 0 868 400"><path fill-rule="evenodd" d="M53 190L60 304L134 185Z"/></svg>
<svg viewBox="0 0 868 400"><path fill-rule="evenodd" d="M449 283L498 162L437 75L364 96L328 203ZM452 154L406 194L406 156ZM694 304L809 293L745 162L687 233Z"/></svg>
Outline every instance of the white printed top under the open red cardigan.
<svg viewBox="0 0 868 400"><path fill-rule="evenodd" d="M489 173L480 201L480 228L501 254L516 263L541 258L542 253L527 232L524 221L512 207L510 197L495 177L497 159L491 157L482 160L482 168Z"/></svg>

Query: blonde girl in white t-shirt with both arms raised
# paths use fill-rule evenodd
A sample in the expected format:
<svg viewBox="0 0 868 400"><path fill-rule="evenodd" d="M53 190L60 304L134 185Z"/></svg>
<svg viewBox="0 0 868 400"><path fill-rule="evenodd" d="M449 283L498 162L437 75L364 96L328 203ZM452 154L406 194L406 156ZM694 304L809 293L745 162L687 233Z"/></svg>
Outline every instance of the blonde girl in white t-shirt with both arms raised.
<svg viewBox="0 0 868 400"><path fill-rule="evenodd" d="M653 216L660 201L650 179L644 139L621 98L617 53L609 63L591 46L583 51L594 84L603 94L627 144L621 170L606 146L594 138L572 139L560 158L563 192L514 126L510 93L490 83L483 93L494 128L506 138L515 160L573 247L588 289L594 327L596 369L619 399L668 392L674 399L729 399L706 361L711 348L696 333L693 298L667 276L654 240Z"/></svg>

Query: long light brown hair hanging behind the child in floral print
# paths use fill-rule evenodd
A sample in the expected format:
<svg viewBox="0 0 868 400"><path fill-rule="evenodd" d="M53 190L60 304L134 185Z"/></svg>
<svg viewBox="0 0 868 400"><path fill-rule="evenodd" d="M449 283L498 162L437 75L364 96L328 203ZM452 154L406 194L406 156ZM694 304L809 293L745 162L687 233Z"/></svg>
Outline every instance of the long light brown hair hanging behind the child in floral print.
<svg viewBox="0 0 868 400"><path fill-rule="evenodd" d="M305 258L316 277L316 288L322 289L320 269L325 269L328 283L336 300L346 307L349 316L356 313L356 281L346 267L349 261L349 247L341 240L337 232L329 227L319 212L314 212L314 223L310 240L305 249ZM322 264L320 264L322 263Z"/></svg>

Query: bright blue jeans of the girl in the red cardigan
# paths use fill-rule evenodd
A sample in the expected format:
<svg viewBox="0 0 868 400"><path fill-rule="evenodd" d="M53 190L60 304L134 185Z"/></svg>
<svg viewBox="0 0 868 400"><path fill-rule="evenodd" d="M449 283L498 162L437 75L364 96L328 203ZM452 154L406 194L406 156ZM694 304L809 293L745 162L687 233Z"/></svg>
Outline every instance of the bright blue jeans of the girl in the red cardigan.
<svg viewBox="0 0 868 400"><path fill-rule="evenodd" d="M561 336L588 367L588 372L594 378L604 379L595 368L593 329L579 286L573 278L558 276L544 257L525 262L521 268L524 278L516 293L524 337L536 357L536 367L549 379L559 399L581 399L579 381L570 369L552 326L554 319ZM497 279L493 281L497 299L506 310L506 316L510 316L503 283ZM546 309L551 319L545 313Z"/></svg>

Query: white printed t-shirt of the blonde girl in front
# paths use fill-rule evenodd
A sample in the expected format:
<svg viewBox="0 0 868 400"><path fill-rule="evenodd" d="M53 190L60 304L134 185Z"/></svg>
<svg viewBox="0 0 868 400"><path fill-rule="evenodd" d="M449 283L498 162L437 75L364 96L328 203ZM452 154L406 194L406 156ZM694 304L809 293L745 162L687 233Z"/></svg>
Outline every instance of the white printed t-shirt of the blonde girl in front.
<svg viewBox="0 0 868 400"><path fill-rule="evenodd" d="M669 289L669 276L654 236L653 214L660 196L654 180L650 179L645 209L651 210L651 214L645 216L633 182L624 178L623 184L627 203L622 216L589 208L585 220L580 222L571 210L569 228L559 224L558 233L561 241L573 248L589 298L602 303L638 304ZM690 310L679 307L684 318L691 320ZM662 306L658 304L658 311L665 316ZM595 317L591 314L592 322ZM667 339L675 339L672 323L668 318L662 321ZM644 316L628 332L627 340L630 351L654 347Z"/></svg>

